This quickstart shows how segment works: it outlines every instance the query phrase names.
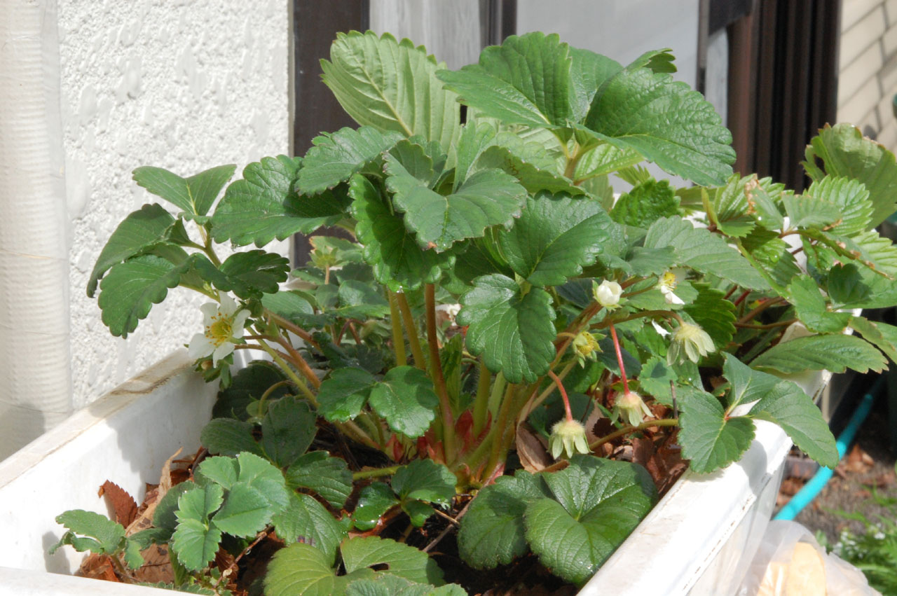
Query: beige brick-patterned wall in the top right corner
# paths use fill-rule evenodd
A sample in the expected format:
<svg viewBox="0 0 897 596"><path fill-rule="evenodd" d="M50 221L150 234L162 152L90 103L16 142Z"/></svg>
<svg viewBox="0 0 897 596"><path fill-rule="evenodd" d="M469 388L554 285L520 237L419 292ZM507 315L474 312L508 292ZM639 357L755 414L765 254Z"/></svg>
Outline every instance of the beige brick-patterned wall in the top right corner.
<svg viewBox="0 0 897 596"><path fill-rule="evenodd" d="M897 150L897 0L843 0L838 121Z"/></svg>

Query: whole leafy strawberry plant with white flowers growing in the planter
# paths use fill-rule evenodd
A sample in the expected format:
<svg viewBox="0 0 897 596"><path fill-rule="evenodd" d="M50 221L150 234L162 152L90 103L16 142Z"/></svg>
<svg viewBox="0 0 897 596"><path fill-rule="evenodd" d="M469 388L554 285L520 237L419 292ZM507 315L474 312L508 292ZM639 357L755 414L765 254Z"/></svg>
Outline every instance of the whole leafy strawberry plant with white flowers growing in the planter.
<svg viewBox="0 0 897 596"><path fill-rule="evenodd" d="M222 386L213 456L144 534L183 585L241 590L216 553L275 540L269 594L464 593L427 555L456 531L473 569L531 557L581 584L668 484L614 446L710 472L762 419L838 462L788 376L897 355L897 328L855 314L897 304L875 231L891 153L826 126L803 194L733 173L731 134L667 50L621 65L528 33L450 71L353 31L321 64L357 128L229 185L233 166L137 168L170 204L131 213L91 275L120 337L170 289L211 300L189 350ZM313 250L291 271L264 246L298 232ZM231 376L236 350L267 361ZM64 542L136 560L106 533Z"/></svg>

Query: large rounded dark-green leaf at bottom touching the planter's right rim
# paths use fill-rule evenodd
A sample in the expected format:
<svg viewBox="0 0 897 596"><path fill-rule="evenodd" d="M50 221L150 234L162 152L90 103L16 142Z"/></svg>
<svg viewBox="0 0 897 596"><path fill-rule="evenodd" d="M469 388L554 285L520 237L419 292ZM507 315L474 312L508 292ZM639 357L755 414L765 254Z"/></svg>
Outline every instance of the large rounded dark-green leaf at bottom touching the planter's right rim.
<svg viewBox="0 0 897 596"><path fill-rule="evenodd" d="M648 471L589 455L544 474L553 498L538 498L524 514L530 548L568 582L586 583L658 500Z"/></svg>

